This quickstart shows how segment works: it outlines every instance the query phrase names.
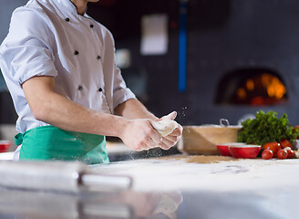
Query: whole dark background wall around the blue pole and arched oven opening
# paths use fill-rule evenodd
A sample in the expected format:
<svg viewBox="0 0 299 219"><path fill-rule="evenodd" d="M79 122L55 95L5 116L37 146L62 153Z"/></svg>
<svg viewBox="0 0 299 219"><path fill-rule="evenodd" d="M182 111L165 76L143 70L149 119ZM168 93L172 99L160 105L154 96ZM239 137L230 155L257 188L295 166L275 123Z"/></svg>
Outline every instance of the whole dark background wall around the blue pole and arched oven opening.
<svg viewBox="0 0 299 219"><path fill-rule="evenodd" d="M107 13L109 11L109 13ZM116 47L133 53L133 65L149 76L149 110L162 116L178 110L186 124L235 124L245 114L275 110L299 124L299 2L296 0L190 0L188 5L187 90L178 90L179 1L121 0L113 6L90 5L89 14L108 26ZM165 56L139 54L140 17L167 13L170 45ZM273 106L217 105L217 86L237 68L267 68L285 82L289 101Z"/></svg>

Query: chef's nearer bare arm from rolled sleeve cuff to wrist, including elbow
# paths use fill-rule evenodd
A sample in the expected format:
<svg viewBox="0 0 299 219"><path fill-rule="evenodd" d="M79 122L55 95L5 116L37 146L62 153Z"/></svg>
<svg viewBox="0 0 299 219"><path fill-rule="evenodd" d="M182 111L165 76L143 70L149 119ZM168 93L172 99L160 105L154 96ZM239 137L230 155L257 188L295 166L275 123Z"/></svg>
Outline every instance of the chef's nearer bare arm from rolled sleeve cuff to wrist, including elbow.
<svg viewBox="0 0 299 219"><path fill-rule="evenodd" d="M36 120L57 128L119 137L129 123L129 120L118 116L88 110L57 94L54 78L30 78L22 86Z"/></svg>

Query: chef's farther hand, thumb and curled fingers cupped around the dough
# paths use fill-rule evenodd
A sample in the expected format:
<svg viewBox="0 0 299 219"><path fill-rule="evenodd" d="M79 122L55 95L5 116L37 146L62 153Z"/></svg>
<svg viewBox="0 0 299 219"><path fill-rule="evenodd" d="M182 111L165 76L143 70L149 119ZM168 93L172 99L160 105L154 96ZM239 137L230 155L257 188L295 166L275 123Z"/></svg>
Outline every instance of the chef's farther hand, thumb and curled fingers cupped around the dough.
<svg viewBox="0 0 299 219"><path fill-rule="evenodd" d="M177 117L177 112L173 111L167 116L160 118L160 120L174 120L176 117ZM182 133L182 127L180 126L180 124L178 124L178 128L173 130L169 135L163 137L161 139L161 142L158 144L158 146L161 149L169 150L171 147L176 145L176 143L180 140L181 133Z"/></svg>

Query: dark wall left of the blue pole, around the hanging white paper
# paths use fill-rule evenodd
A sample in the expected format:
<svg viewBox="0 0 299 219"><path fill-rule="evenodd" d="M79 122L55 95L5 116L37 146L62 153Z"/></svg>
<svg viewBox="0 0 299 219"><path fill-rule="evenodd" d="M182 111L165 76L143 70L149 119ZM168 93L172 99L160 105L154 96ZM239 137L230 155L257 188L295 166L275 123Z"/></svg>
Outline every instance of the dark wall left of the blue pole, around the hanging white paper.
<svg viewBox="0 0 299 219"><path fill-rule="evenodd" d="M145 70L148 76L148 99L143 103L157 116L163 116L172 110L183 113L188 106L188 93L178 90L178 33L179 1L116 1L110 7L90 4L88 14L108 27L115 37L117 48L129 48L132 53L132 66L122 69L126 79L127 72L136 68ZM109 11L109 12L108 12ZM169 16L169 50L162 56L142 56L140 46L141 16L167 14ZM142 99L141 99L142 100Z"/></svg>

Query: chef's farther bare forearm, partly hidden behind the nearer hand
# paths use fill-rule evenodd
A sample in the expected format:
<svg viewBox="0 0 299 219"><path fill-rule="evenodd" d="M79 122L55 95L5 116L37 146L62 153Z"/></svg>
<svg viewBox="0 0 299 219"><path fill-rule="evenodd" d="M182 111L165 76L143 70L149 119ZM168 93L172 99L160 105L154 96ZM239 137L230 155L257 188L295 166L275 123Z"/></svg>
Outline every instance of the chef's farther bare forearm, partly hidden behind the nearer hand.
<svg viewBox="0 0 299 219"><path fill-rule="evenodd" d="M119 104L114 110L115 115L127 119L150 119L158 120L138 99L129 99L126 102Z"/></svg>

